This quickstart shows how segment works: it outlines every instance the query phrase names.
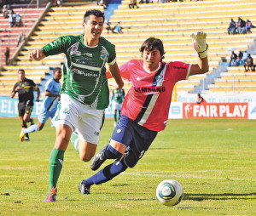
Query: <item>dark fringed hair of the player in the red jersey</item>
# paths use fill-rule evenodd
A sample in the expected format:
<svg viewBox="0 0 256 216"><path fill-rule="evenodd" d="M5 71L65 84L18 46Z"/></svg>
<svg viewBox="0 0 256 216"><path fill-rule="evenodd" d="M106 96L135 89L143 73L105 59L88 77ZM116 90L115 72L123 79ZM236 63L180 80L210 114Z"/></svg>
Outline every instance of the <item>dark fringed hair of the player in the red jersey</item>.
<svg viewBox="0 0 256 216"><path fill-rule="evenodd" d="M164 45L160 39L155 37L149 37L146 41L144 41L139 51L143 55L144 49L146 49L147 51L152 51L154 48L157 48L160 51L160 55L162 56L161 60L165 59L164 55L166 54L166 52L164 49Z"/></svg>

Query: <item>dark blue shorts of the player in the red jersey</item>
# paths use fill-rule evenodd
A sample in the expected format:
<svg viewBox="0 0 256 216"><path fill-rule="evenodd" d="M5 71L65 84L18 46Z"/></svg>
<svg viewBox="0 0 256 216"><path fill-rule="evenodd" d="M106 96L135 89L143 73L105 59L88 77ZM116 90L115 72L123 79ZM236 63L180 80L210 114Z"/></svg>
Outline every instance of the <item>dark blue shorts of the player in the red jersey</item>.
<svg viewBox="0 0 256 216"><path fill-rule="evenodd" d="M145 128L130 118L121 116L111 139L126 146L125 164L133 168L156 137L157 132Z"/></svg>

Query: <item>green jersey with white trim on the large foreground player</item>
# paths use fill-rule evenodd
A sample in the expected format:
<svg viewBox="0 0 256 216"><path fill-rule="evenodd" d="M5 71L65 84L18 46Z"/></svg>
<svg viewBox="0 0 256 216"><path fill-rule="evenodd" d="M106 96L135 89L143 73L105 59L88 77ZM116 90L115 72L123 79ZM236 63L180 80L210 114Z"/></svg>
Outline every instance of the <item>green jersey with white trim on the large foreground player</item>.
<svg viewBox="0 0 256 216"><path fill-rule="evenodd" d="M114 65L115 47L104 37L98 45L89 47L84 44L84 35L58 37L43 48L45 56L66 54L61 93L73 99L102 110L108 107L109 89L105 64Z"/></svg>

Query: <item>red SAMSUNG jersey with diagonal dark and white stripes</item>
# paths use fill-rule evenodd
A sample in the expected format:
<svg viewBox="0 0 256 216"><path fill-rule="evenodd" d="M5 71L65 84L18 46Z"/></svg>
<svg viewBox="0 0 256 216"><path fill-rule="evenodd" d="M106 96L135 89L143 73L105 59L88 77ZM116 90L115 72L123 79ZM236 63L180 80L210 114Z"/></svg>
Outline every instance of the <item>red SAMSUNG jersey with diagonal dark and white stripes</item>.
<svg viewBox="0 0 256 216"><path fill-rule="evenodd" d="M147 71L143 60L130 60L120 68L121 77L132 87L125 96L121 114L145 128L166 128L176 82L189 77L190 65L183 62L161 62L156 71Z"/></svg>

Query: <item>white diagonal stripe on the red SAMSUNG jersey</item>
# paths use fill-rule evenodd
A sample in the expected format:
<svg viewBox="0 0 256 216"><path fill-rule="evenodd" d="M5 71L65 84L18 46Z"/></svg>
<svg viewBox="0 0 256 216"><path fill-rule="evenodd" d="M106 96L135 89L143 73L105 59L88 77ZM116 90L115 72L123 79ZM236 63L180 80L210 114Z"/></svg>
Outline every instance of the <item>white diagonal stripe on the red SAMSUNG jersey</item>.
<svg viewBox="0 0 256 216"><path fill-rule="evenodd" d="M161 86L164 81L164 77L166 75L166 66L167 66L167 64L165 65L165 68L163 69L163 71L160 72L159 77L162 76L162 79L161 79L161 82L157 82L156 87ZM147 110L145 111L141 121L138 122L139 125L143 126L143 123L147 122L148 117L150 116L151 112L153 111L154 105L155 105L156 100L158 99L159 95L160 94L153 94L153 96L150 99L150 102L148 104Z"/></svg>

